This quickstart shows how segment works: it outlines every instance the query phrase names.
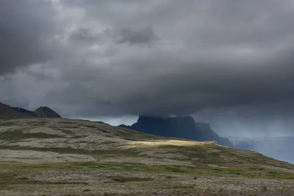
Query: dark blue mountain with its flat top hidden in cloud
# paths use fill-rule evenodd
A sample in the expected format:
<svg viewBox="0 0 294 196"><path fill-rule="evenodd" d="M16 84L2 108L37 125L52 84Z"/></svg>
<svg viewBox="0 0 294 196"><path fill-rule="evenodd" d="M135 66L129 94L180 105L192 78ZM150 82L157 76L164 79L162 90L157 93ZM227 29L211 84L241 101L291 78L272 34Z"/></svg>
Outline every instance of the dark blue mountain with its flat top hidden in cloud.
<svg viewBox="0 0 294 196"><path fill-rule="evenodd" d="M208 123L196 123L191 116L147 117L139 116L137 123L119 127L164 137L184 138L197 141L216 141L223 146L234 147L227 138L220 137Z"/></svg>

